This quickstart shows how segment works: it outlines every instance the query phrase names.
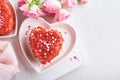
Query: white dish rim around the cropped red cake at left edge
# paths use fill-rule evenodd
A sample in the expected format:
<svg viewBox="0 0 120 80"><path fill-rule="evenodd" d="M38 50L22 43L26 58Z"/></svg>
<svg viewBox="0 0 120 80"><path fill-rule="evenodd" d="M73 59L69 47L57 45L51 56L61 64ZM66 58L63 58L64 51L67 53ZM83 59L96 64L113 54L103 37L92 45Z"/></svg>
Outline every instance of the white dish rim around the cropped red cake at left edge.
<svg viewBox="0 0 120 80"><path fill-rule="evenodd" d="M11 1L9 0L6 0L8 3L10 3L10 5L12 6L13 8L13 11L14 11L14 14L15 14L15 29L10 33L10 34L7 34L7 35L0 35L0 38L10 38L10 37L14 37L16 36L17 34L17 29L18 29L18 18L17 18L17 13L16 13L16 10L14 8L14 5Z"/></svg>

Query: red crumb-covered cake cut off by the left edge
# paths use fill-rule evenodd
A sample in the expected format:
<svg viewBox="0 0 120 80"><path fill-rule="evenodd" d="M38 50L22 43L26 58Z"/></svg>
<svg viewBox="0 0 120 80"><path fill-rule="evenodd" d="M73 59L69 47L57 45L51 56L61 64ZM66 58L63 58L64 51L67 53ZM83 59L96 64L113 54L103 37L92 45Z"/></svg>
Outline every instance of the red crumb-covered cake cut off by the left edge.
<svg viewBox="0 0 120 80"><path fill-rule="evenodd" d="M15 14L6 0L0 0L0 35L6 35L15 28Z"/></svg>

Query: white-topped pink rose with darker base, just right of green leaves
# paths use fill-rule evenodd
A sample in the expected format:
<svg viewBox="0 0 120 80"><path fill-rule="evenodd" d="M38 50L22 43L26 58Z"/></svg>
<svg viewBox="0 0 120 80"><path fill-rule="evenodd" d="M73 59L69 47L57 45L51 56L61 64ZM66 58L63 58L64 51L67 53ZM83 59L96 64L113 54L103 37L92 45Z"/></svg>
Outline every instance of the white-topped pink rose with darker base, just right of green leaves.
<svg viewBox="0 0 120 80"><path fill-rule="evenodd" d="M57 9L61 8L61 3L58 0L46 0L42 7L46 16L52 16L55 14Z"/></svg>

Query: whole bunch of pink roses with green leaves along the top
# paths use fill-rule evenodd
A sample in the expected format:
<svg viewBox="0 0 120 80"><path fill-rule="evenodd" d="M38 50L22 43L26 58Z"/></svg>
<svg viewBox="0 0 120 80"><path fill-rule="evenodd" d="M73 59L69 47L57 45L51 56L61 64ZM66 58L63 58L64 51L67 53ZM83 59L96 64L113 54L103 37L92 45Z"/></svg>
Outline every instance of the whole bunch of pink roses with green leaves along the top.
<svg viewBox="0 0 120 80"><path fill-rule="evenodd" d="M54 21L63 21L70 17L68 9L85 3L87 0L20 0L18 7L27 17L37 19L45 16Z"/></svg>

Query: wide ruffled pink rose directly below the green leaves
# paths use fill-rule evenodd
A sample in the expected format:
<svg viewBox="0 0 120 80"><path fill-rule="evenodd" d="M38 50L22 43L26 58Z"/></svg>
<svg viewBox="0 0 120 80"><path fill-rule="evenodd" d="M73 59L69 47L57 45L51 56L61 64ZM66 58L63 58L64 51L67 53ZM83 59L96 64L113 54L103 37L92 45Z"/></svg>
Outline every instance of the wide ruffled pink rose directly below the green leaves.
<svg viewBox="0 0 120 80"><path fill-rule="evenodd" d="M44 15L43 11L37 5L33 5L32 7L29 7L28 4L25 4L19 7L19 9L21 11L24 11L23 15L32 17L32 18L38 18L39 16Z"/></svg>

